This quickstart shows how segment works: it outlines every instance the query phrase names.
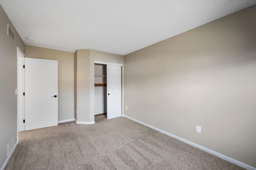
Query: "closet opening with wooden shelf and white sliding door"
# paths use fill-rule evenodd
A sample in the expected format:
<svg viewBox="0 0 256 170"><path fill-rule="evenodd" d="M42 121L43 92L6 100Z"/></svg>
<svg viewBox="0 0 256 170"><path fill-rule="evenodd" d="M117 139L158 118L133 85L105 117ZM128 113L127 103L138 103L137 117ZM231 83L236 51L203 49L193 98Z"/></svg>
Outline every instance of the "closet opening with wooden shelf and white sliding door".
<svg viewBox="0 0 256 170"><path fill-rule="evenodd" d="M122 64L115 63L94 63L95 122L98 119L112 119L122 115L121 66Z"/></svg>

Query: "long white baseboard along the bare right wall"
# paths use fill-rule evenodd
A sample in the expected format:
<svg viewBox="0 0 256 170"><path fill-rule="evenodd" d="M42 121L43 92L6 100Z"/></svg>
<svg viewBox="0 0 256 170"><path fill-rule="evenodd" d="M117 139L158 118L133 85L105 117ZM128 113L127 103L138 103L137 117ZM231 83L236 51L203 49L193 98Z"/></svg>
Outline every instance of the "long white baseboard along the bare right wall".
<svg viewBox="0 0 256 170"><path fill-rule="evenodd" d="M252 167L252 166L250 166L250 165L247 165L247 164L245 164L245 163L243 163L243 162L240 162L240 161L238 161L238 160L235 160L235 159L233 159L233 158L230 158L230 157L228 157L228 156L225 156L225 155L223 155L223 154L220 154L220 153L218 153L218 152L215 152L214 150L210 150L210 149L208 149L208 148L206 148L206 147L202 147L201 145L198 145L198 144L196 144L196 143L190 142L190 141L188 141L188 140L186 140L186 139L183 139L183 138L181 138L181 137L178 137L178 136L176 136L176 135L173 135L173 134L171 134L171 133L168 133L168 132L166 132L166 131L163 131L163 130L161 130L161 129L158 129L158 128L154 127L154 126L151 126L151 125L148 125L148 124L143 123L143 122L141 122L141 121L138 121L138 120L136 120L136 119L133 119L132 117L129 117L129 116L126 116L126 115L124 115L124 117L126 117L126 118L128 118L128 119L131 119L131 120L133 120L133 121L136 121L136 122L138 122L138 123L140 123L140 124L142 124L142 125L145 125L145 126L147 126L147 127L152 128L152 129L155 129L156 131L159 131L159 132L161 132L161 133L164 133L164 134L166 134L166 135L168 135L168 136L170 136L170 137L173 137L173 138L175 138L175 139L178 139L179 141L182 141L182 142L184 142L184 143L187 143L187 144L189 144L189 145L192 145L193 147L196 147L196 148L201 149L201 150L204 150L204 151L206 151L206 152L208 152L208 153L210 153L210 154L213 154L213 155L215 155L215 156L218 156L218 157L220 157L220 158L222 158L222 159L224 159L224 160L227 160L228 162L231 162L231 163L233 163L233 164L236 164L236 165L238 165L238 166L241 166L242 168L246 168L246 169L248 169L248 170L256 170L256 168L254 168L254 167Z"/></svg>

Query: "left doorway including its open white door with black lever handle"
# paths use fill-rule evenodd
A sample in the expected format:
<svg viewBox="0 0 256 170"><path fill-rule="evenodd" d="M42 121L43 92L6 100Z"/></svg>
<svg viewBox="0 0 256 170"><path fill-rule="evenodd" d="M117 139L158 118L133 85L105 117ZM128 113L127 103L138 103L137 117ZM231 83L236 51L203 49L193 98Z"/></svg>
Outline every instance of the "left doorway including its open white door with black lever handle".
<svg viewBox="0 0 256 170"><path fill-rule="evenodd" d="M17 56L18 132L58 125L58 61Z"/></svg>

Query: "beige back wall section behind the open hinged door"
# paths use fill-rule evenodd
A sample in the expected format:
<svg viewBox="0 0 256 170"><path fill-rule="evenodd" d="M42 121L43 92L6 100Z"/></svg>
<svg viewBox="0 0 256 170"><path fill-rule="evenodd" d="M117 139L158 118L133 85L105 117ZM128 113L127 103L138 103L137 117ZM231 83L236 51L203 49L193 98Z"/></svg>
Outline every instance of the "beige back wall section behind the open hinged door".
<svg viewBox="0 0 256 170"><path fill-rule="evenodd" d="M26 57L58 61L58 121L74 119L74 53L26 45Z"/></svg>

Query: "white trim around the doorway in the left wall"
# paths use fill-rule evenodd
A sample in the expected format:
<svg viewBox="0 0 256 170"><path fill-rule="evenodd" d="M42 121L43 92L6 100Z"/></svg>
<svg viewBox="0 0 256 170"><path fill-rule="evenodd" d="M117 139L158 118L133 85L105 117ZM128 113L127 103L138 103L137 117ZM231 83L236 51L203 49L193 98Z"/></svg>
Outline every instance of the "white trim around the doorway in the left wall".
<svg viewBox="0 0 256 170"><path fill-rule="evenodd" d="M18 88L18 82L19 82L19 70L18 70L18 66L19 66L19 56L21 56L23 58L25 58L25 54L21 51L21 49L19 47L17 47L17 143L19 143L19 105L18 105L18 100L19 100L19 88ZM23 76L23 84L24 84L24 76ZM24 99L23 99L24 101ZM24 111L24 102L23 102L23 111Z"/></svg>

